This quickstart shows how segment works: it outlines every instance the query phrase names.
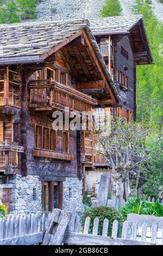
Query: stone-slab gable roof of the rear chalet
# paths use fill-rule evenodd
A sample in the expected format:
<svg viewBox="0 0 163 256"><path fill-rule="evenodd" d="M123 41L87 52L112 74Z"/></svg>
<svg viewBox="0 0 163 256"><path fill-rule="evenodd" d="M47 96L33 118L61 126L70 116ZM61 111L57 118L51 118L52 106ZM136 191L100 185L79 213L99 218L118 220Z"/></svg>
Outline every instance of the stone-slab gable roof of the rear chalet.
<svg viewBox="0 0 163 256"><path fill-rule="evenodd" d="M134 38L134 34L139 35L139 41L134 38L133 45L142 45L141 50L136 49L135 52L142 52L144 48L147 53L143 57L142 64L151 64L153 56L151 46L148 41L145 22L142 15L133 16L114 16L114 17L99 17L89 19L90 29L93 35L111 35L111 34L124 34L130 35ZM137 64L141 64L137 62Z"/></svg>

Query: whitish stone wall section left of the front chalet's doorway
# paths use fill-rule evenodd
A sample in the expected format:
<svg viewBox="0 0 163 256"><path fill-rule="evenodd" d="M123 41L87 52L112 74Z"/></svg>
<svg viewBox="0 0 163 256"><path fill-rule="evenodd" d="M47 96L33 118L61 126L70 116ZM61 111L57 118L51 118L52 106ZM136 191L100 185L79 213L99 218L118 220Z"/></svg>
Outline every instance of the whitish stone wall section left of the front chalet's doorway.
<svg viewBox="0 0 163 256"><path fill-rule="evenodd" d="M41 212L41 181L39 176L9 176L11 188L10 214Z"/></svg>

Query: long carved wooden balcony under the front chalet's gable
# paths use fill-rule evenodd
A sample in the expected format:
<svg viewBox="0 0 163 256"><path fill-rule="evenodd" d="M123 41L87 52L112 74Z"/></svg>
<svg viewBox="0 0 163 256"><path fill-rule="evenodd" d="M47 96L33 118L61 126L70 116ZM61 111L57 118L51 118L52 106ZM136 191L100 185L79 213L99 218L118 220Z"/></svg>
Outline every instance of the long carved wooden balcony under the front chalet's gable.
<svg viewBox="0 0 163 256"><path fill-rule="evenodd" d="M29 108L35 111L64 110L65 107L69 107L71 111L87 112L91 111L92 106L97 105L97 101L91 96L55 81L30 81L28 88Z"/></svg>

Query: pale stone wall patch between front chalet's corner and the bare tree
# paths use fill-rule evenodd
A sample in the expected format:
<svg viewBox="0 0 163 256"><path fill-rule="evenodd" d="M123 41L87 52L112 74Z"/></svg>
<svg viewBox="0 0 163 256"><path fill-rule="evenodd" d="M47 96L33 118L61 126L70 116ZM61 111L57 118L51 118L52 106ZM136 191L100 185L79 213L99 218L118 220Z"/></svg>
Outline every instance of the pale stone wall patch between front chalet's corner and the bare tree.
<svg viewBox="0 0 163 256"><path fill-rule="evenodd" d="M108 172L104 169L89 170L85 172L85 190L92 192L92 185L100 181L102 173Z"/></svg>

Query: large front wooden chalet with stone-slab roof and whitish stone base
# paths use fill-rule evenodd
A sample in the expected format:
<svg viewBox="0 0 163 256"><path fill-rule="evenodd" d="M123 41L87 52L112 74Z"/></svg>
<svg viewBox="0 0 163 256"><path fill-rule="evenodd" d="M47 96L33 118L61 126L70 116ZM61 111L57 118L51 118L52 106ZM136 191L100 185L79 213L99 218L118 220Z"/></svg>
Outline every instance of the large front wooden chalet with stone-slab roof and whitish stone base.
<svg viewBox="0 0 163 256"><path fill-rule="evenodd" d="M55 131L52 114L120 101L89 25L0 25L0 195L12 214L68 208L71 197L81 210L93 131Z"/></svg>

